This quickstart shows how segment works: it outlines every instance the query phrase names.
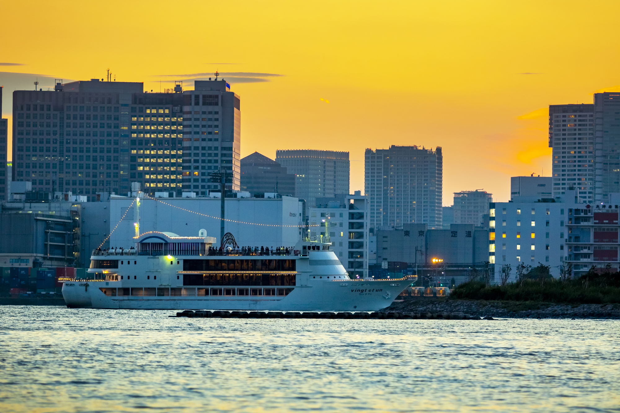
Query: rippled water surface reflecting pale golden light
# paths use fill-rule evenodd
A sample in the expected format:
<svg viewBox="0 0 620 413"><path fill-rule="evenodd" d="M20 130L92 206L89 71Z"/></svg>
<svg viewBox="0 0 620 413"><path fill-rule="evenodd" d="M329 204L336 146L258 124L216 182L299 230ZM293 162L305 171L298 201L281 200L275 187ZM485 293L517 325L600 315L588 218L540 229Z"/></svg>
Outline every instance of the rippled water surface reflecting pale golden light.
<svg viewBox="0 0 620 413"><path fill-rule="evenodd" d="M0 411L620 412L620 321L0 307Z"/></svg>

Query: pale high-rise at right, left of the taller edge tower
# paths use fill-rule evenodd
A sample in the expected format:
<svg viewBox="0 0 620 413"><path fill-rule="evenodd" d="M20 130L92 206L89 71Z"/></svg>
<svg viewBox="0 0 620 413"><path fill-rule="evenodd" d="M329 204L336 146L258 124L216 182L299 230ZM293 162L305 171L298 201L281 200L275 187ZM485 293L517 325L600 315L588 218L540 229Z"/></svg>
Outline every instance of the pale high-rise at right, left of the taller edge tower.
<svg viewBox="0 0 620 413"><path fill-rule="evenodd" d="M554 198L570 188L581 203L595 199L594 106L549 105Z"/></svg>

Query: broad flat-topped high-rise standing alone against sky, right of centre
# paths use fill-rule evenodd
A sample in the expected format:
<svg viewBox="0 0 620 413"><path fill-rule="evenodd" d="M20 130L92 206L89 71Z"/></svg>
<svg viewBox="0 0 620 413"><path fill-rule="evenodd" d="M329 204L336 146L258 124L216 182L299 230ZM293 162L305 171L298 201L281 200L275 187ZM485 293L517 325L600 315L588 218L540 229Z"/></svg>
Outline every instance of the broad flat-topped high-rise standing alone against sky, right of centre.
<svg viewBox="0 0 620 413"><path fill-rule="evenodd" d="M405 223L440 228L443 157L441 148L390 146L366 149L365 192L370 197L370 228Z"/></svg>

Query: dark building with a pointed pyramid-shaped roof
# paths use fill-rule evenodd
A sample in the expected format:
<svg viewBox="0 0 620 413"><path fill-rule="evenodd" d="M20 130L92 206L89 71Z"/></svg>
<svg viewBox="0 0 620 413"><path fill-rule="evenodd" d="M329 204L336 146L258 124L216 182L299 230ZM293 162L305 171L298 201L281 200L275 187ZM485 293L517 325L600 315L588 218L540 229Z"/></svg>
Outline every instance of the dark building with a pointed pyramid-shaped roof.
<svg viewBox="0 0 620 413"><path fill-rule="evenodd" d="M295 174L258 152L241 159L241 190L253 197L257 193L295 194Z"/></svg>

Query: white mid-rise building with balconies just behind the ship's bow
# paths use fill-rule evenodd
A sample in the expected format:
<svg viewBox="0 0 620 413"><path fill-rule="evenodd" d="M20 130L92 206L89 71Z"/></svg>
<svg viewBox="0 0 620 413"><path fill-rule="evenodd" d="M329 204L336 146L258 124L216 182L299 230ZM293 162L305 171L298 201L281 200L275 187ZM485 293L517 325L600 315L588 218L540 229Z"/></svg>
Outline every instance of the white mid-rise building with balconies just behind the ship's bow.
<svg viewBox="0 0 620 413"><path fill-rule="evenodd" d="M325 220L329 221L329 238L340 263L352 277L368 275L369 236L368 197L354 195L316 198L316 207L309 208L309 237L325 239Z"/></svg>

